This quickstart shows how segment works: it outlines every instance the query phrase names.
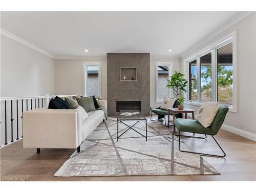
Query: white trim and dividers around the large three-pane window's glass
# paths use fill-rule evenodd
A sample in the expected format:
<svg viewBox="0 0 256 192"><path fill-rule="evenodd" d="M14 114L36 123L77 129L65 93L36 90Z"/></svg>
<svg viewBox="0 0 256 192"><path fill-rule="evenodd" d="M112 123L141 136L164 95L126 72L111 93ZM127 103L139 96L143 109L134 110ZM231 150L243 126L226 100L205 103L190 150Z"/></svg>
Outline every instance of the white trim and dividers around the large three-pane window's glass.
<svg viewBox="0 0 256 192"><path fill-rule="evenodd" d="M205 49L197 52L196 54L193 54L192 56L185 58L184 62L183 62L183 69L184 69L184 73L185 73L185 77L186 79L188 79L189 75L188 75L188 62L193 61L195 59L197 59L197 66L200 66L200 57L211 52L211 61L212 63L216 62L216 54L215 54L215 50L217 48L222 47L223 45L228 44L228 42L233 42L233 60L232 60L232 66L233 66L233 105L229 106L229 112L233 112L233 113L237 113L237 34L236 31L228 34L227 36L221 38L220 40L216 41L214 44L211 44L209 46L207 46ZM215 68L215 65L212 65ZM199 68L199 67L198 67ZM215 69L212 69L212 71L214 72ZM197 75L199 75L197 78L200 79L201 78L201 74L200 74L200 68L198 69ZM216 74L212 73L212 81L216 81ZM201 82L201 79L200 79ZM188 82L188 86L187 86L187 94L185 94L184 96L186 97L186 101L185 104L190 104L190 105L196 105L196 106L201 106L203 102L201 102L201 93L200 92L200 87L201 84L200 82L198 82L197 84L197 90L198 90L198 99L197 101L189 101L189 82ZM214 87L213 90L217 89L217 83L213 83L212 86ZM212 99L217 99L217 93L216 91L214 91L212 93L213 97Z"/></svg>

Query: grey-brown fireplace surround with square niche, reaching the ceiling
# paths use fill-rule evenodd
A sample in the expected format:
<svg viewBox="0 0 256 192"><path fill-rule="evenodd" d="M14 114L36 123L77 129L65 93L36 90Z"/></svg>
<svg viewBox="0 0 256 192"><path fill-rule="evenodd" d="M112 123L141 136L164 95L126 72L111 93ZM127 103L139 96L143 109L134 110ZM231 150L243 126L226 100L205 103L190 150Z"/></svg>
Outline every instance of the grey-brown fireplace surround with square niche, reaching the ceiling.
<svg viewBox="0 0 256 192"><path fill-rule="evenodd" d="M116 101L141 101L142 113L150 114L150 54L108 53L108 113L117 115ZM137 81L120 81L121 67L136 67Z"/></svg>

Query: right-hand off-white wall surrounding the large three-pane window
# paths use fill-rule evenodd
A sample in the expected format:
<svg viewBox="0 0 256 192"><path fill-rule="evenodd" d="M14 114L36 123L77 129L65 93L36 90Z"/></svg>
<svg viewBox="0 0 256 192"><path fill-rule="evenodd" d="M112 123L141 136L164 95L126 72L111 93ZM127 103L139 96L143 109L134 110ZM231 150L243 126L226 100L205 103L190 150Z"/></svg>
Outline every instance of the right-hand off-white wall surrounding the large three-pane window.
<svg viewBox="0 0 256 192"><path fill-rule="evenodd" d="M213 44L215 41L225 37L233 31L237 33L237 90L238 90L238 112L229 112L223 126L224 129L256 139L256 64L255 64L255 37L256 37L256 13L252 13L231 26L216 37L205 42L197 49L185 55L181 59L181 71L184 59L194 55L200 50ZM186 105L188 108L198 109L195 105Z"/></svg>

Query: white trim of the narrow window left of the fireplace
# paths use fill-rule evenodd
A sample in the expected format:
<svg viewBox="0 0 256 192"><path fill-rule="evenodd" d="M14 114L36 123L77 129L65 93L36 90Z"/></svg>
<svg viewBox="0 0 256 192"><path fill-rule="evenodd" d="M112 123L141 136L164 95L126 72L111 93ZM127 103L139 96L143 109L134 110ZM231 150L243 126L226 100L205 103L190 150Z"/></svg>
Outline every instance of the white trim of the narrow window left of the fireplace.
<svg viewBox="0 0 256 192"><path fill-rule="evenodd" d="M99 96L101 97L101 62L83 62L82 68L83 68L83 95L87 95L87 87L86 87L86 81L87 81L87 72L86 72L86 66L99 66Z"/></svg>

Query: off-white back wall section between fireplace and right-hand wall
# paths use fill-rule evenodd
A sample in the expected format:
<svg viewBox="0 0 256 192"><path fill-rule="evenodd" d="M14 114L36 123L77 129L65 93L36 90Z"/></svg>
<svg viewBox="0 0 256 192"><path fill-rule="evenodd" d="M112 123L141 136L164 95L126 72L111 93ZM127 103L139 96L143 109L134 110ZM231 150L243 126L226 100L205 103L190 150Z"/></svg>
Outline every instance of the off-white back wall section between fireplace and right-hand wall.
<svg viewBox="0 0 256 192"><path fill-rule="evenodd" d="M156 103L156 62L173 62L172 74L180 71L180 59L150 59L150 105L152 109L161 105L161 103Z"/></svg>

